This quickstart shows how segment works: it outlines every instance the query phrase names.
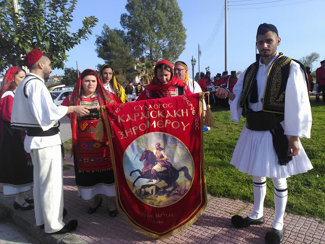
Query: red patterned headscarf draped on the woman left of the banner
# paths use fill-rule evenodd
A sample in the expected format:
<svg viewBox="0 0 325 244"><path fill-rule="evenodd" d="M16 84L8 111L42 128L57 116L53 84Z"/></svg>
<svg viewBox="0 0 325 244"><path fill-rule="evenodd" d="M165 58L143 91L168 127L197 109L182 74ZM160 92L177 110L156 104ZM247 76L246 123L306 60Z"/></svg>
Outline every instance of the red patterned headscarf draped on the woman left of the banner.
<svg viewBox="0 0 325 244"><path fill-rule="evenodd" d="M62 105L64 106L78 106L80 105L80 98L82 96L81 94L81 90L82 90L82 84L81 84L81 77L83 76L82 74L87 71L92 71L91 73L89 73L89 75L94 75L97 79L97 93L98 93L98 101L100 106L104 106L107 104L114 104L114 103L120 103L120 100L114 96L114 94L110 93L108 90L106 90L100 80L100 78L98 77L98 74L91 69L86 69L84 70L77 81L77 84L70 96L70 104L69 104L69 97L66 98L66 100L63 101ZM102 114L103 116L103 114ZM72 145L73 147L76 145L77 143L77 115L75 114L71 114L70 115L70 124L71 124L71 130L72 130Z"/></svg>

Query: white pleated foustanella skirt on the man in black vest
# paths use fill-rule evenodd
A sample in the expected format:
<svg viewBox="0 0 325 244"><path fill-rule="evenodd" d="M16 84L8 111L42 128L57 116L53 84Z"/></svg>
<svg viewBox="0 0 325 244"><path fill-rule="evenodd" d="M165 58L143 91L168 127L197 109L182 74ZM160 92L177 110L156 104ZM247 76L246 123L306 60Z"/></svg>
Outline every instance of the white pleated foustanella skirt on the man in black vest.
<svg viewBox="0 0 325 244"><path fill-rule="evenodd" d="M270 131L252 131L244 126L230 161L239 171L270 178L287 178L306 173L313 166L299 141L299 153L287 165L280 166Z"/></svg>

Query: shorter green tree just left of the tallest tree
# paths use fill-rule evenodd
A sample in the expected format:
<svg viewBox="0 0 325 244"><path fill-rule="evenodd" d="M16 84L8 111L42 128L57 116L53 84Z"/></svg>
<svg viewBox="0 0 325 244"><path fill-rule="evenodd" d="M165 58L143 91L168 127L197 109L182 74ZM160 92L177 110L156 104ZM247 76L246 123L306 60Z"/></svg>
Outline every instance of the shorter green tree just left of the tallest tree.
<svg viewBox="0 0 325 244"><path fill-rule="evenodd" d="M119 29L110 29L104 24L101 36L96 36L95 42L98 57L114 68L117 77L124 77L125 82L135 78L135 58L131 48L125 43L125 34Z"/></svg>

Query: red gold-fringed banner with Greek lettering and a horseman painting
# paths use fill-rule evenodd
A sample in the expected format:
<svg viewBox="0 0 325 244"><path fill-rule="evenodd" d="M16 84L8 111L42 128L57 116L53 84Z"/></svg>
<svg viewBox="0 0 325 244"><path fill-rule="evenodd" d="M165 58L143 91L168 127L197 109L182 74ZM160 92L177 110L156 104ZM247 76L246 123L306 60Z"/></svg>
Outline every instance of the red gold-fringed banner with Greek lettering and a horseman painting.
<svg viewBox="0 0 325 244"><path fill-rule="evenodd" d="M117 207L151 237L176 234L207 205L200 96L103 107Z"/></svg>

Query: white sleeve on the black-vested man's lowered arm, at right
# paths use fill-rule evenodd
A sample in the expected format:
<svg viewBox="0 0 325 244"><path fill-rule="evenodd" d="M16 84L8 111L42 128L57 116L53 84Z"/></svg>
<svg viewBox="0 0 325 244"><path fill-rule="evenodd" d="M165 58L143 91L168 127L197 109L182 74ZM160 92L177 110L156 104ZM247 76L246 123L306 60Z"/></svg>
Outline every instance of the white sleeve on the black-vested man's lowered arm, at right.
<svg viewBox="0 0 325 244"><path fill-rule="evenodd" d="M284 134L310 138L311 123L306 78L300 65L293 61L285 88Z"/></svg>

